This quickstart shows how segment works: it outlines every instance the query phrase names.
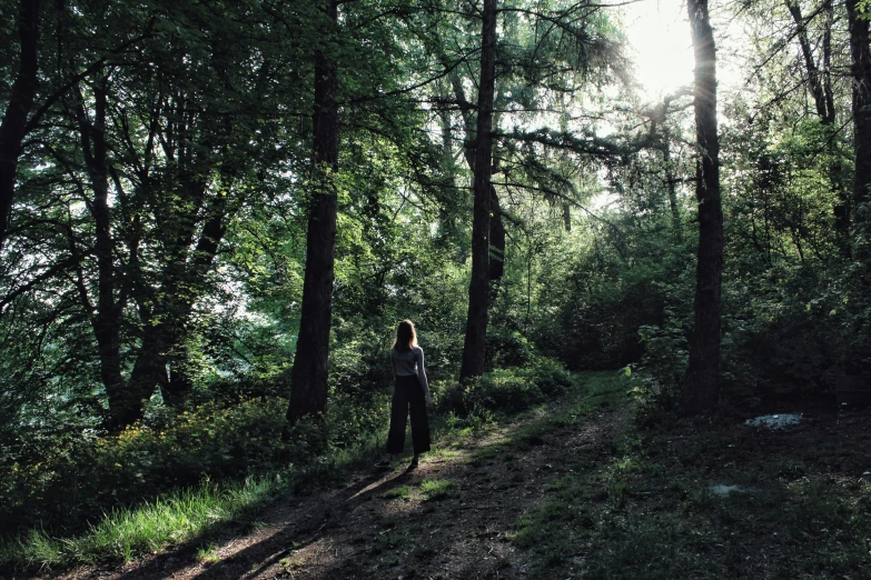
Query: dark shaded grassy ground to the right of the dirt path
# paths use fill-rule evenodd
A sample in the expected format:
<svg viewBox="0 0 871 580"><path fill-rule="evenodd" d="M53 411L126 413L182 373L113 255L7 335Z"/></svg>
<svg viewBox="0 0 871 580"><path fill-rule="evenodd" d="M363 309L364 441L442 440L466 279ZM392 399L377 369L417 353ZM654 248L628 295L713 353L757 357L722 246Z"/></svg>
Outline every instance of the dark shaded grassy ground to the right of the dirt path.
<svg viewBox="0 0 871 580"><path fill-rule="evenodd" d="M614 381L593 378L586 389L590 396L528 426L524 437L625 404ZM511 540L529 552L533 577L561 579L570 570L608 580L868 577L871 482L849 472L833 477L833 462L824 460L852 454L864 464L861 440L821 454L837 436L808 446L779 433L772 437L783 441L772 450L770 442L731 439L743 436L715 424L628 429L573 457L573 472L545 484L544 503L515 522ZM721 497L714 483L741 491Z"/></svg>

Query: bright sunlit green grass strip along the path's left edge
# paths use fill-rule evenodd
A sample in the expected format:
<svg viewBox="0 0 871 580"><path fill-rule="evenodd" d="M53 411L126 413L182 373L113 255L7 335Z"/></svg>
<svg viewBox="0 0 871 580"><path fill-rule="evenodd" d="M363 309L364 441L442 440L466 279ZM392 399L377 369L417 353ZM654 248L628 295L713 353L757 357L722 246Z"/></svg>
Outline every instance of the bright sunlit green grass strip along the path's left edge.
<svg viewBox="0 0 871 580"><path fill-rule="evenodd" d="M591 384L602 390L601 393L596 392L595 397L610 392L608 388L602 387L610 384L610 378L605 374L582 373L580 377L583 381L595 379ZM575 391L580 392L574 389L570 397ZM545 407L546 404L541 404L521 416L535 416ZM518 437L501 441L492 446L489 451L485 449L478 453L482 459L487 457L492 460L506 450L521 453L524 449L544 444L543 436L547 429L555 424L572 424L583 410L578 407L573 412L574 416L562 413L558 418L548 419L551 422L547 424L521 430ZM499 421L512 420L516 420L516 416L499 417ZM459 421L452 417L434 417L430 426L434 440L438 444L429 458L442 461L458 460L472 438L498 429L495 416L491 422L481 418L475 421ZM319 458L319 461L305 469L277 472L256 481L220 484L206 481L192 489L167 493L136 507L113 510L76 536L59 536L43 529L31 529L17 538L0 539L0 567L44 570L102 561L129 562L182 544L199 546L198 559L210 562L216 556L215 547L209 540L228 522L253 516L266 502L284 493L338 482L348 468L368 466L379 453L379 443L383 441L384 433L376 433L362 439L355 446L334 449L328 457ZM428 480L420 484L418 493L425 502L436 502L455 497L457 490L451 480ZM384 497L404 501L410 496L412 490L402 487ZM382 543L387 546L396 541L398 540L390 536L389 541L385 539Z"/></svg>

